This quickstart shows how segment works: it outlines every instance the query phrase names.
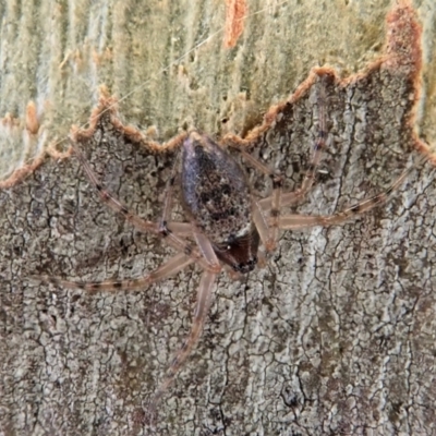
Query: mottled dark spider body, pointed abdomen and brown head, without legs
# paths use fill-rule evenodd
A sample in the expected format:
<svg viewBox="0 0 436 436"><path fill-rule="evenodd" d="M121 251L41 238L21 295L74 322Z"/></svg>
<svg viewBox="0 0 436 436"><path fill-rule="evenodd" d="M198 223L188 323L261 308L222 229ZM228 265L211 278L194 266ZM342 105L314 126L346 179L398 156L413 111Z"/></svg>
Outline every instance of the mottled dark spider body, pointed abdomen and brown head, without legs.
<svg viewBox="0 0 436 436"><path fill-rule="evenodd" d="M253 269L258 235L245 175L229 154L197 132L183 143L182 197L218 257L233 269Z"/></svg>

